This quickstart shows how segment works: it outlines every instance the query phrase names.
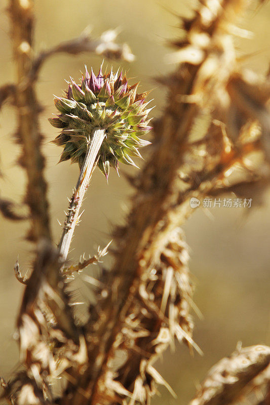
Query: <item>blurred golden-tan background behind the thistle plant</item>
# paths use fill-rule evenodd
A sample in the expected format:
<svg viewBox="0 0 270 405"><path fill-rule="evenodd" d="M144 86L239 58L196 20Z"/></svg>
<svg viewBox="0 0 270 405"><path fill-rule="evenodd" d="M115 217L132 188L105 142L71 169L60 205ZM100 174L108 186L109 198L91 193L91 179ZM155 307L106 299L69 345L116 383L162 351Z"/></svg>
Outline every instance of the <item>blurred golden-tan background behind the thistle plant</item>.
<svg viewBox="0 0 270 405"><path fill-rule="evenodd" d="M181 34L175 14L190 13L188 3L190 6L191 2L182 0L80 0L80 3L74 0L37 0L35 51L78 36L88 25L93 27L93 36L120 27L118 42L127 42L136 60L132 64L116 61L112 66L114 70L120 65L128 69L130 77L141 81L143 90L155 88L152 98L155 98L157 107L152 112L159 116L166 103L166 89L157 85L154 78L174 69L173 65L166 63L166 55L171 51L167 43L170 38L176 39ZM8 2L2 1L0 85L12 82L15 73L7 6ZM261 8L254 6L240 24L254 33L253 38L236 39L239 56L247 56L242 58L243 64L261 73L268 69L270 60L269 18L270 4ZM57 219L64 221L67 197L71 195L79 169L69 162L57 165L62 149L49 143L57 130L49 125L47 118L55 113L53 94L61 96L66 88L64 79L69 75L78 79L85 63L97 71L101 58L89 54L54 56L45 63L37 86L38 98L45 106L41 126L45 137L46 179L56 244L61 233ZM110 61L105 61L104 66L107 63L110 66ZM13 142L15 130L14 111L5 106L0 112L0 166L4 174L0 179L0 190L3 197L20 201L25 176L16 166L19 147ZM147 151L142 153L147 155ZM121 172L124 171L127 169L122 165ZM125 219L131 193L123 175L119 178L112 172L107 185L99 171L94 173L84 204L83 221L72 242L70 259L77 261L83 252L93 255L99 245L107 244L113 226ZM190 246L190 271L196 284L194 301L203 314L202 319L194 314L194 339L202 348L204 357L197 353L190 356L183 345L177 345L176 353L168 351L157 367L178 398L173 399L161 388L162 397L155 397L153 405L186 404L209 368L234 351L238 341L243 346L270 344L269 203L268 191L261 207L255 207L256 201L252 201L254 209L199 209L184 225ZM0 375L6 378L18 361L18 349L12 336L23 287L16 280L13 267L18 255L23 273L31 264L32 247L23 240L27 229L26 223L12 223L0 217ZM78 286L80 289L80 281Z"/></svg>

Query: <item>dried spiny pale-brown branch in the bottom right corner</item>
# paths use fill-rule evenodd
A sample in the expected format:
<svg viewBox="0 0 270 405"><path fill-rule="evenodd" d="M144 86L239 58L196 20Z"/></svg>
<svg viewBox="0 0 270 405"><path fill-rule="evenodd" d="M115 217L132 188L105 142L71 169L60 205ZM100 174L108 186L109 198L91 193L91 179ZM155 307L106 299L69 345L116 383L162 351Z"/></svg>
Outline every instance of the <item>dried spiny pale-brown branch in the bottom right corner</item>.
<svg viewBox="0 0 270 405"><path fill-rule="evenodd" d="M251 346L236 350L211 368L196 397L189 404L259 404L261 395L265 397L270 382L269 365L268 346Z"/></svg>

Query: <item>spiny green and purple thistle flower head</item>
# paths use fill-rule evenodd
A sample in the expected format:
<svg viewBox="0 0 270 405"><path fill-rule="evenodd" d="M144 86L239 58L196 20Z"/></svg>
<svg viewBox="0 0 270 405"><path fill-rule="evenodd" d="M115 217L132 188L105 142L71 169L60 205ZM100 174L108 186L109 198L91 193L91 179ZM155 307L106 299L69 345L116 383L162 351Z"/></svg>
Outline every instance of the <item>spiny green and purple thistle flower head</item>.
<svg viewBox="0 0 270 405"><path fill-rule="evenodd" d="M49 118L52 126L61 128L53 141L64 148L60 161L71 159L83 165L91 134L96 128L106 131L100 148L98 166L108 177L109 167L118 170L119 161L134 165L131 156L139 156L138 148L150 142L139 137L146 134L148 112L145 97L148 92L138 94L139 83L128 85L126 74L113 74L112 69L102 74L102 66L96 76L87 68L82 83L72 78L66 97L55 97L55 106L60 112L57 118Z"/></svg>

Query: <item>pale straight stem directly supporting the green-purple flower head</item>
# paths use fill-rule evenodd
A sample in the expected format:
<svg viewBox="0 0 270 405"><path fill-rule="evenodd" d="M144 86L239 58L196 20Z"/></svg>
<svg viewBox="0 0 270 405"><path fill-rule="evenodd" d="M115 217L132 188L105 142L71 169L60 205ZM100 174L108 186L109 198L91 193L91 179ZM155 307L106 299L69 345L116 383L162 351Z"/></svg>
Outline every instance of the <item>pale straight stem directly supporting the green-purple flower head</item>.
<svg viewBox="0 0 270 405"><path fill-rule="evenodd" d="M65 219L65 225L61 235L61 239L58 245L61 261L65 261L68 255L69 247L71 244L72 235L75 226L80 219L79 212L86 193L89 181L92 173L97 164L97 156L100 150L101 144L105 138L105 130L96 128L93 131L93 135L88 144L85 160L80 172L78 182L75 187L75 191L72 195L67 216Z"/></svg>

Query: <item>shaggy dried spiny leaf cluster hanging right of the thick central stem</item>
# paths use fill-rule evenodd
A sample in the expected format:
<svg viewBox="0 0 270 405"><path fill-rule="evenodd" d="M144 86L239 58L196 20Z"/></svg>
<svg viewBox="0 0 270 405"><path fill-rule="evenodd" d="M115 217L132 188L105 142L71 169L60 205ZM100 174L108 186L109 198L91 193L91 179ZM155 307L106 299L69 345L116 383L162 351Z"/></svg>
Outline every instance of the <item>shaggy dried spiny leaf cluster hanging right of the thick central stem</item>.
<svg viewBox="0 0 270 405"><path fill-rule="evenodd" d="M156 392L155 383L165 385L174 395L152 363L169 345L173 347L175 337L192 343L192 321L189 315L192 287L187 260L183 234L180 229L176 229L171 232L156 262L141 277L138 294L128 299L129 309L121 332L115 339L104 384L100 383L97 397L102 397L105 392L108 394L105 384L107 379L110 379L111 387L112 381L121 384L122 395L129 397L132 393L131 403L140 402L142 398L143 402L148 403ZM113 361L114 356L119 356L118 353L122 353L124 359L120 363ZM116 388L115 385L115 394L120 394Z"/></svg>

